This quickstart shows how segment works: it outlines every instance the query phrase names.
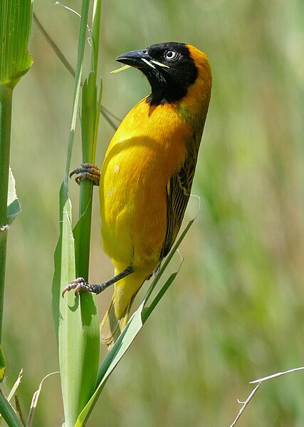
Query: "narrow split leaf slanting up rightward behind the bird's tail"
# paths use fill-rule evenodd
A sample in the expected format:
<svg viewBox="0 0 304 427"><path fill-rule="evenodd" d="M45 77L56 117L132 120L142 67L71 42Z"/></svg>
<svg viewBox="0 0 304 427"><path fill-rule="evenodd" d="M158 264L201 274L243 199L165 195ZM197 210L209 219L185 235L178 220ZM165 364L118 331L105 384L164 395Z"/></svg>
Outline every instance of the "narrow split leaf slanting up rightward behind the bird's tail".
<svg viewBox="0 0 304 427"><path fill-rule="evenodd" d="M142 329L142 326L150 317L150 314L152 314L153 310L155 309L155 307L157 306L159 301L162 299L165 292L167 292L167 289L169 288L169 286L172 284L175 277L177 276L179 269L169 276L169 279L167 279L167 281L164 283L162 288L159 290L157 295L154 297L154 299L150 303L150 307L146 307L147 301L152 296L152 292L157 286L159 279L162 277L162 274L164 274L165 269L167 269L169 262L171 261L175 252L177 252L179 245L181 244L185 235L187 235L187 232L189 231L189 228L192 226L194 220L195 218L188 223L187 227L185 227L184 231L180 235L176 244L172 248L167 258L165 259L162 268L157 274L157 277L155 277L150 288L148 289L148 292L145 298L143 299L142 304L140 304L140 307L138 307L136 312L132 315L130 320L127 322L127 326L120 334L119 338L115 342L111 351L109 351L108 355L105 357L105 360L103 361L103 364L101 364L100 369L98 371L98 381L97 381L95 393L90 398L90 401L88 401L88 404L85 406L83 411L80 413L80 416L78 417L78 420L75 423L75 427L85 426L85 423L86 421L88 421L88 417L90 416L90 413L93 411L93 408L98 401L98 397L100 396L100 393L103 390L103 387L105 386L105 383L108 380L110 374L115 369L118 362L122 359L122 356L124 356L125 352L132 344L132 341L134 341L135 336L137 336L140 329Z"/></svg>

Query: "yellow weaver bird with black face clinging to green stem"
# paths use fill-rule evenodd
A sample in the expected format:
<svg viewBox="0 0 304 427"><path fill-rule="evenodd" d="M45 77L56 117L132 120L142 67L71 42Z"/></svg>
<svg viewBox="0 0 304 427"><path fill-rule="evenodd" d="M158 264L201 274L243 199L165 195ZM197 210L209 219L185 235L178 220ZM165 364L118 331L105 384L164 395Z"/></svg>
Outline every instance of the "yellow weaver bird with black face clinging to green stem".
<svg viewBox="0 0 304 427"><path fill-rule="evenodd" d="M127 324L138 290L177 238L211 94L208 58L189 44L154 44L116 61L142 71L151 94L122 120L101 171L90 164L73 171L82 174L78 180L99 184L103 248L115 277L102 284L80 277L64 290L99 294L115 283L100 324L101 340L109 347Z"/></svg>

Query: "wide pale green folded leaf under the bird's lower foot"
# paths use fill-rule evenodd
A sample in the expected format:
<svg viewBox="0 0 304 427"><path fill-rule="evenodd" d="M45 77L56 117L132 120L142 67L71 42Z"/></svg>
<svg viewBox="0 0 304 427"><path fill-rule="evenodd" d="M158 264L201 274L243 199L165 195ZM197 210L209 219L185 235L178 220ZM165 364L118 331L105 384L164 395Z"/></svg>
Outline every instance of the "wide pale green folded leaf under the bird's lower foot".
<svg viewBox="0 0 304 427"><path fill-rule="evenodd" d="M98 371L98 313L91 294L75 297L64 287L75 279L75 245L71 226L71 204L64 184L60 192L61 234L55 251L53 317L58 336L61 388L65 426L73 426L92 396ZM85 220L85 215L80 221ZM78 234L77 225L75 235ZM97 331L97 332L96 332ZM97 336L97 339L96 339ZM97 343L97 344L96 344Z"/></svg>

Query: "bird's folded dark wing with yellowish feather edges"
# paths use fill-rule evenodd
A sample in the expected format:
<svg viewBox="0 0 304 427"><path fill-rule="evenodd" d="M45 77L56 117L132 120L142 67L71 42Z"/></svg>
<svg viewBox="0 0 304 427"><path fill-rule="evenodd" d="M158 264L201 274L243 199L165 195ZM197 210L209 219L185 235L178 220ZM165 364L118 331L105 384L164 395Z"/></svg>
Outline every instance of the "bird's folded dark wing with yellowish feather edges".
<svg viewBox="0 0 304 427"><path fill-rule="evenodd" d="M169 253L182 225L184 212L190 197L196 156L197 154L194 155L193 152L188 152L182 167L172 175L167 184L167 231L161 259Z"/></svg>

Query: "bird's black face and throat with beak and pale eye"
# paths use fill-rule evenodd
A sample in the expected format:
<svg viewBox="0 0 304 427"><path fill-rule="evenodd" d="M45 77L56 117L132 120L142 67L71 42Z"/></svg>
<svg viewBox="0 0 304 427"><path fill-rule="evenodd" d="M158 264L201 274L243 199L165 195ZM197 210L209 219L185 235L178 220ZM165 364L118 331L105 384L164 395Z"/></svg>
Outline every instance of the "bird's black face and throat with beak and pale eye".
<svg viewBox="0 0 304 427"><path fill-rule="evenodd" d="M152 89L147 102L151 105L179 101L187 95L198 74L184 43L152 44L140 51L123 53L116 61L139 68L147 76Z"/></svg>

